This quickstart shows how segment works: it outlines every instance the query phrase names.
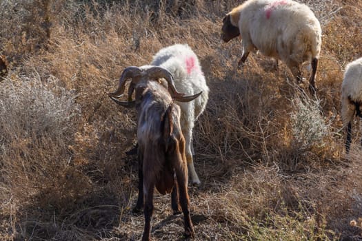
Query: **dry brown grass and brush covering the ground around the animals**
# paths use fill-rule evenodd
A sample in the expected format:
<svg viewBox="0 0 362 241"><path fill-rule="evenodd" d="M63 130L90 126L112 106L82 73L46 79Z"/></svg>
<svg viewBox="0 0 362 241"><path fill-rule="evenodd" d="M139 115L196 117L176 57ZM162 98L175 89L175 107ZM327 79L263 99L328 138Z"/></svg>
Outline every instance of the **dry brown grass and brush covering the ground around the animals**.
<svg viewBox="0 0 362 241"><path fill-rule="evenodd" d="M105 93L173 43L191 46L210 86L194 131L195 240L362 238L359 122L346 156L339 116L362 1L303 0L323 29L317 98L261 54L237 68L240 43L219 33L241 2L0 1L0 240L139 240L134 112ZM170 197L154 205L154 240L182 240Z"/></svg>

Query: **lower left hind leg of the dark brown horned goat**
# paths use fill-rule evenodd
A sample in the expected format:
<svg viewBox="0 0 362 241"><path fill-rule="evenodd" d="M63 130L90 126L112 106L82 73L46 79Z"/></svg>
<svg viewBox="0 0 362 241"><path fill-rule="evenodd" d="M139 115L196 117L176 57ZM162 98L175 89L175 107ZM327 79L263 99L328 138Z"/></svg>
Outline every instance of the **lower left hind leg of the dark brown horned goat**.
<svg viewBox="0 0 362 241"><path fill-rule="evenodd" d="M144 196L145 196L145 207L143 213L145 215L145 229L143 231L142 240L151 240L151 221L153 213L153 190L154 182L152 180L145 180L144 185Z"/></svg>

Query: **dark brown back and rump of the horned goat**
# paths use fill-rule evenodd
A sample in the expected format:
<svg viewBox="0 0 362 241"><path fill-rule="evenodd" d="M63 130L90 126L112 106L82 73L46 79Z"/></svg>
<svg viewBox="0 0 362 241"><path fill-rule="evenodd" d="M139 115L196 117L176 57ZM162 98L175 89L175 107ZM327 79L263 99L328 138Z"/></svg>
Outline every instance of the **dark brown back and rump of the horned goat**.
<svg viewBox="0 0 362 241"><path fill-rule="evenodd" d="M148 81L137 105L137 140L143 157L143 176L154 177L159 193L172 191L174 165L181 165L175 156L185 161L185 143L181 132L181 109L161 84ZM143 86L144 87L144 86Z"/></svg>

